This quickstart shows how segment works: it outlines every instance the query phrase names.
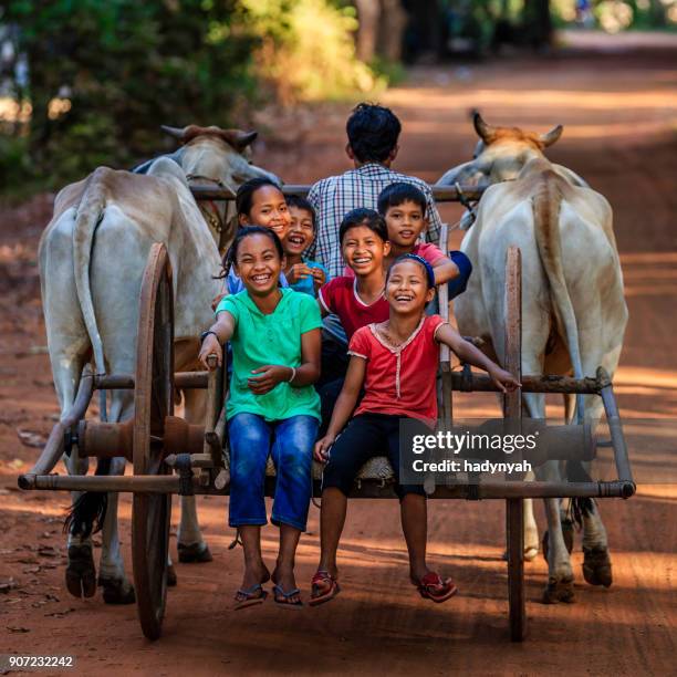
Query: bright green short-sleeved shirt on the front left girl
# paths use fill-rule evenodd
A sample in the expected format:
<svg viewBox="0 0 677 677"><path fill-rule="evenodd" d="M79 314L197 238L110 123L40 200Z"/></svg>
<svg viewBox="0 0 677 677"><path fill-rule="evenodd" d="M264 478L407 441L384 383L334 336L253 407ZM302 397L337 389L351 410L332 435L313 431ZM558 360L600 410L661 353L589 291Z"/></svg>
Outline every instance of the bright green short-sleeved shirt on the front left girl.
<svg viewBox="0 0 677 677"><path fill-rule="evenodd" d="M247 290L221 299L216 314L228 311L236 321L230 338L232 376L226 418L247 412L265 420L283 420L292 416L314 416L321 420L320 397L312 385L296 388L279 383L265 395L254 395L247 381L252 369L264 364L289 367L301 365L301 334L322 326L317 302L292 289L281 289L282 298L270 315L264 315Z"/></svg>

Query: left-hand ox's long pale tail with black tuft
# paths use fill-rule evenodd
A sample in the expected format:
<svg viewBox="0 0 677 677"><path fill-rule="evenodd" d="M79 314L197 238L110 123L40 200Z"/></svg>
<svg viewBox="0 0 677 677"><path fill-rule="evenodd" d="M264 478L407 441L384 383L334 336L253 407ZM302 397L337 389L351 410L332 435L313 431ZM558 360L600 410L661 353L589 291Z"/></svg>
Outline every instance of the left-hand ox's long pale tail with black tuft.
<svg viewBox="0 0 677 677"><path fill-rule="evenodd" d="M100 167L92 174L85 186L84 192L77 207L75 227L73 228L73 264L75 268L75 289L77 300L82 310L97 374L105 374L103 342L98 333L94 302L92 300L92 288L90 283L90 265L92 263L92 246L94 233L101 223L106 207L106 175L111 169ZM106 415L106 392L100 390L100 412L102 420ZM111 459L100 459L96 464L96 475L108 475L111 471ZM92 532L100 531L106 515L107 493L98 491L85 491L73 503L66 517L64 529L69 529L73 535L87 538Z"/></svg>

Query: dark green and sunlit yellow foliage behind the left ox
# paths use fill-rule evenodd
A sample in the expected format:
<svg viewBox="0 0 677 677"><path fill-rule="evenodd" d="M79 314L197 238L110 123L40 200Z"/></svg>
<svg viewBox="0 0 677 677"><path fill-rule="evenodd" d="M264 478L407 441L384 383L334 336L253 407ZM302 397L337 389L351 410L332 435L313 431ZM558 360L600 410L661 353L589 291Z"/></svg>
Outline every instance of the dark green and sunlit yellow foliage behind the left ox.
<svg viewBox="0 0 677 677"><path fill-rule="evenodd" d="M28 113L0 94L2 186L129 167L163 150L160 124L229 126L265 96L372 93L385 77L356 59L356 28L333 0L6 0L0 85Z"/></svg>

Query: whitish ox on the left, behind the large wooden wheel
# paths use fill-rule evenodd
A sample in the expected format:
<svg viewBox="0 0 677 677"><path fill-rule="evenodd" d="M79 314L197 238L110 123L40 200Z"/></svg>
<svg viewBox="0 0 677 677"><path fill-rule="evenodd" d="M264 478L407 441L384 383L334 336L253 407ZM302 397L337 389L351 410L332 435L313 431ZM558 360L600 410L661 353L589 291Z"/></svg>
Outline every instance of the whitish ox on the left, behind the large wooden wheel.
<svg viewBox="0 0 677 677"><path fill-rule="evenodd" d="M267 175L240 155L242 148L231 146L213 129L218 128L208 128L202 138L194 136L183 148L183 159L194 174L230 188ZM241 163L232 162L236 155ZM238 183L230 184L236 181L232 165L238 168ZM98 168L58 195L39 256L50 360L62 415L73 404L82 368L92 355L97 373L134 372L140 281L154 242L167 247L174 272L175 371L199 368L197 336L212 322L209 302L221 287L213 279L220 268L218 238L204 220L184 170L166 158L155 160L148 176ZM184 397L186 417L194 423L204 420L204 393L189 390ZM132 407L131 392L113 390L108 420L132 416ZM88 465L75 452L65 462L71 473L84 473ZM100 461L97 471L119 475L124 465L123 458ZM88 503L93 506L102 507L100 500ZM69 533L66 584L76 596L95 592L87 533L94 518L86 509L75 510ZM178 543L183 560L210 559L194 498L181 498ZM106 602L134 601L117 537L116 493L107 497L98 581Z"/></svg>

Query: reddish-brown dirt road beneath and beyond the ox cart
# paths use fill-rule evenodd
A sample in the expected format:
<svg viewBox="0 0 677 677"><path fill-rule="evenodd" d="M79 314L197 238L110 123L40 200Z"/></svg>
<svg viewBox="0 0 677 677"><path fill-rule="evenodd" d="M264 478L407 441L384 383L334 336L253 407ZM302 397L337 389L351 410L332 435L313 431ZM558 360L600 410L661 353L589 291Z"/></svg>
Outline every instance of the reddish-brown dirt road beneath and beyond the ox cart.
<svg viewBox="0 0 677 677"><path fill-rule="evenodd" d="M674 448L677 418L677 49L570 50L540 61L413 71L384 101L404 123L397 167L434 180L468 159L475 137L467 111L494 124L545 131L564 124L550 157L567 165L611 200L622 252L631 322L617 373L624 417L660 418ZM290 183L347 168L342 153L347 106L330 110L294 150L259 163ZM457 206L445 207L452 222ZM459 595L440 606L420 600L407 579L406 550L392 501L351 504L340 552L343 592L317 610L272 602L229 611L240 582L241 551L228 550L226 500L202 499L200 518L215 561L178 565L164 637L140 635L134 606L108 607L100 596L69 596L61 521L66 497L21 493L28 468L58 413L46 355L37 277L37 242L49 201L3 215L0 231L0 654L73 654L83 674L656 674L675 671L675 461L659 468L674 483L646 483L631 501L607 501L614 585L582 582L577 600L544 606L546 567L527 565L530 632L522 645L507 633L503 507L436 501L430 506L430 562L452 575ZM491 398L461 396L460 410L496 410ZM458 410L458 409L457 409ZM632 423L632 421L631 421ZM673 426L674 430L675 426ZM24 442L18 438L18 430ZM633 438L639 479L648 477L646 439ZM669 449L668 449L669 450ZM674 457L673 457L674 458ZM121 501L127 571L129 499ZM543 525L539 506L540 524ZM176 511L175 511L176 521ZM304 596L317 560L317 511L299 549ZM272 563L277 531L264 530Z"/></svg>

